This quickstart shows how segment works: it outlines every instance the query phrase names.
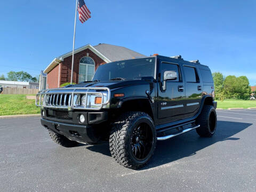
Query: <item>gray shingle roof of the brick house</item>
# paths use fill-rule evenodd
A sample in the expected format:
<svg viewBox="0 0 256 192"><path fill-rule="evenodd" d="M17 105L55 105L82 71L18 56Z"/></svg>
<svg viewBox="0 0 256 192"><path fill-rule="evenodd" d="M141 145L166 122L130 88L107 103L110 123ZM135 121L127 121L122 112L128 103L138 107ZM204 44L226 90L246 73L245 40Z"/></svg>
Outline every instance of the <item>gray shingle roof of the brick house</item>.
<svg viewBox="0 0 256 192"><path fill-rule="evenodd" d="M103 54L111 61L119 61L123 59L131 59L137 57L146 57L143 54L127 49L123 46L110 45L106 43L100 43L93 46L97 51Z"/></svg>

